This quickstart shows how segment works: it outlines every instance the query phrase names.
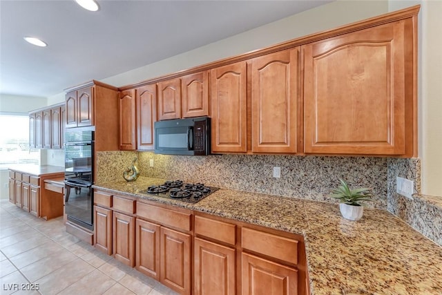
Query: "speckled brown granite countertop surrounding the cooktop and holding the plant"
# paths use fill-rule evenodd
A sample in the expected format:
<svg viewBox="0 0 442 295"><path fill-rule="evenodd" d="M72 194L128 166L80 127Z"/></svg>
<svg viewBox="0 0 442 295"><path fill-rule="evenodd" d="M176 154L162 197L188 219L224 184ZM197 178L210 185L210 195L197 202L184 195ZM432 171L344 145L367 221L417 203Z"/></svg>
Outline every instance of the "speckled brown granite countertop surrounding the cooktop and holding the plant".
<svg viewBox="0 0 442 295"><path fill-rule="evenodd" d="M442 247L387 211L365 209L354 222L328 202L220 189L189 204L144 193L162 182L140 177L94 188L301 234L312 294L442 294Z"/></svg>

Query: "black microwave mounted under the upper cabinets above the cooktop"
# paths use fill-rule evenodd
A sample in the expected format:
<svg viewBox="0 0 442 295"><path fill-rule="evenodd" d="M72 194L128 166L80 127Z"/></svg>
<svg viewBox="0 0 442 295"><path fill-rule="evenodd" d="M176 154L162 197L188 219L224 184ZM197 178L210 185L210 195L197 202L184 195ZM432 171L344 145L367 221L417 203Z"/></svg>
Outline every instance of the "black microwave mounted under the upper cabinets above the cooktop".
<svg viewBox="0 0 442 295"><path fill-rule="evenodd" d="M194 117L158 121L155 127L155 153L164 155L209 155L210 118Z"/></svg>

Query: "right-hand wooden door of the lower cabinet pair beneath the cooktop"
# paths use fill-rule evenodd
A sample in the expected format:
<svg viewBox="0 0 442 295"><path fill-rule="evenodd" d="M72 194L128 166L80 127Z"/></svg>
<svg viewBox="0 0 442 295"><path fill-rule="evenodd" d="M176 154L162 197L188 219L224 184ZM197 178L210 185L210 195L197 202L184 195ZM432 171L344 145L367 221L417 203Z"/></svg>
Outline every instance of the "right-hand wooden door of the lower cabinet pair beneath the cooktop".
<svg viewBox="0 0 442 295"><path fill-rule="evenodd" d="M191 236L161 227L160 281L180 294L191 294Z"/></svg>

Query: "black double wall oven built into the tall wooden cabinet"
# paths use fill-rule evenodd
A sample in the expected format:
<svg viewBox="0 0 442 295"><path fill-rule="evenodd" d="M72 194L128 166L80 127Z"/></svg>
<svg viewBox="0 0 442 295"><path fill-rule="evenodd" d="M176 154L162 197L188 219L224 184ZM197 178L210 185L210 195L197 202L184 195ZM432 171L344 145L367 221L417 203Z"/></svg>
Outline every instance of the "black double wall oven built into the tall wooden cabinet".
<svg viewBox="0 0 442 295"><path fill-rule="evenodd" d="M93 230L93 128L65 131L65 212L70 222Z"/></svg>

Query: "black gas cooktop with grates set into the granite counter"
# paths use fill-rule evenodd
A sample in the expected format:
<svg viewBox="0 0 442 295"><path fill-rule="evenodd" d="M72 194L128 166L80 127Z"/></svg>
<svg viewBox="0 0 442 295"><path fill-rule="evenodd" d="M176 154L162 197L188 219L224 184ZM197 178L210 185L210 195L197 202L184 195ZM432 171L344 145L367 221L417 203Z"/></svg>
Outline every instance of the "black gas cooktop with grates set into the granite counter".
<svg viewBox="0 0 442 295"><path fill-rule="evenodd" d="M171 180L160 185L148 187L146 192L163 198L196 203L218 189L218 187L206 187L202 183L184 183L182 180Z"/></svg>

